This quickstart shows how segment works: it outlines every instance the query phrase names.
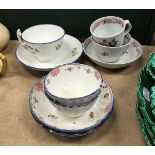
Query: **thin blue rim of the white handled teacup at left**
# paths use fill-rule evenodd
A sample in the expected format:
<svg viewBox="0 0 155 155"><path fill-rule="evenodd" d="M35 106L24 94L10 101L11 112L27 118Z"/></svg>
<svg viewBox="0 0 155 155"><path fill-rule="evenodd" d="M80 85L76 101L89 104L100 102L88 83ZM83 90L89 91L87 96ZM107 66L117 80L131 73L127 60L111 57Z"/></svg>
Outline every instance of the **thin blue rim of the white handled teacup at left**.
<svg viewBox="0 0 155 155"><path fill-rule="evenodd" d="M59 37L59 38L56 39L56 40L48 41L48 42L41 42L41 43L30 42L30 41L28 41L28 40L26 40L26 39L23 38L23 33L26 32L28 29L30 29L30 28L32 28L32 27L35 27L35 26L41 26L41 25L53 25L53 26L57 26L57 27L59 27L59 28L61 28L61 29L63 30L63 34L61 35L61 37ZM65 30L64 30L61 26L58 26L58 25L55 25L55 24L38 24L38 25L30 26L29 28L25 29L25 30L22 32L22 34L21 34L21 38L22 38L25 42L30 43L30 44L49 44L49 43L53 43L53 42L56 42L56 41L62 39L62 38L64 37L64 35L65 35Z"/></svg>

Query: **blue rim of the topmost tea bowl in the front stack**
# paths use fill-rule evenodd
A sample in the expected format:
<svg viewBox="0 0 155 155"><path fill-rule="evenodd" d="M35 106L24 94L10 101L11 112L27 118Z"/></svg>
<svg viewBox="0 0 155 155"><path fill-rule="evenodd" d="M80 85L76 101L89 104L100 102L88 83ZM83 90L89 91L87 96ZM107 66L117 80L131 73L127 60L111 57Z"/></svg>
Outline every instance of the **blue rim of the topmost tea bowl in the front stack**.
<svg viewBox="0 0 155 155"><path fill-rule="evenodd" d="M100 79L101 79L101 80L100 80L100 85L98 86L98 88L97 88L96 90L94 90L92 93L89 93L89 94L84 95L84 96L81 96L81 97L75 97L75 98L64 98L64 97L59 97L59 96L53 95L53 94L52 94L51 92L49 92L48 89L46 88L46 87L47 87L47 86L46 86L46 79L47 79L48 75L49 75L54 69L56 69L56 68L58 68L58 67L61 67L61 66L67 66L67 65L83 65L83 66L88 66L88 67L92 68L93 70L96 70L96 71L99 73ZM47 76L45 77L45 80L44 80L44 89L48 92L48 94L50 95L50 97L53 96L53 97L55 97L55 98L59 98L59 99L63 99L63 100L71 100L71 101L74 101L74 100L77 100L77 99L82 99L82 98L91 96L91 95L95 94L98 90L101 89L101 84L102 84L102 79L103 79L103 78L102 78L102 75L100 74L100 72L99 72L97 69L95 69L95 68L92 67L92 66L85 65L85 64L80 64L80 63L69 63L69 64L59 65L59 66L53 68L53 70L50 71L50 72L47 74Z"/></svg>

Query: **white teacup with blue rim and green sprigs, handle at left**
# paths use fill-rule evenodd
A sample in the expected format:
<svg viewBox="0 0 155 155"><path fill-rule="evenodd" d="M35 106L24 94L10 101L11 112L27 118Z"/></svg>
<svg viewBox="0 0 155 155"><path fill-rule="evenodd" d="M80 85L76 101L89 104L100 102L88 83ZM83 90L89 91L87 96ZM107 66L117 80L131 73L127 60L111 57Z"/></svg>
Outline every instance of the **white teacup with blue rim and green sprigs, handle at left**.
<svg viewBox="0 0 155 155"><path fill-rule="evenodd" d="M42 24L32 26L21 33L17 30L20 43L39 61L50 61L58 55L63 44L65 31L57 25Z"/></svg>

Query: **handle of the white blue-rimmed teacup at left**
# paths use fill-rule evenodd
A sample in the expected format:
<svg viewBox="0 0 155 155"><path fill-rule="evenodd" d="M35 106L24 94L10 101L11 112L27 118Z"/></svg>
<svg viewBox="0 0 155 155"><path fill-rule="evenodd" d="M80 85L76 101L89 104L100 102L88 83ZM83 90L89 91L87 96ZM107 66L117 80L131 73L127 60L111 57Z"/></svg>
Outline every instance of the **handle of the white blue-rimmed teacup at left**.
<svg viewBox="0 0 155 155"><path fill-rule="evenodd" d="M20 29L17 30L16 34L17 34L17 38L18 38L19 42L21 43L21 45L23 45L28 51L30 51L31 53L33 53L35 55L38 53L36 49L25 44L25 42L23 41L22 33L21 33Z"/></svg>

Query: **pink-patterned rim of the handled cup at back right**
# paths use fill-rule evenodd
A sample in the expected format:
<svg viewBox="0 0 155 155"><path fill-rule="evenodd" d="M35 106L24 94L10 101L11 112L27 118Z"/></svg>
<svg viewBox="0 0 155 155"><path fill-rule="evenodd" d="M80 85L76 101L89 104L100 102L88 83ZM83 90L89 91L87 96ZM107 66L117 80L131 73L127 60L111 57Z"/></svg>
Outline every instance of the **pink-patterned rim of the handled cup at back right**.
<svg viewBox="0 0 155 155"><path fill-rule="evenodd" d="M97 37L97 38L100 38L100 39L109 39L109 38L117 37L118 35L120 35L120 34L124 31L125 25L123 26L122 31L120 31L119 33L116 33L115 35L112 35L112 36L109 36L109 37L100 37L100 36L97 36L97 35L93 32L93 30L92 30L93 28L92 28L92 27L94 26L95 22L97 22L97 21L99 21L99 20L101 20L101 19L107 18L107 17L118 18L118 19L120 19L121 21L123 21L123 23L124 23L124 20L123 20L122 18L120 18L120 17L117 17L117 16L105 16L105 17L98 18L98 19L96 19L95 21L93 21L93 23L90 25L90 32L91 32L91 34L92 34L93 36L95 36L95 37Z"/></svg>

